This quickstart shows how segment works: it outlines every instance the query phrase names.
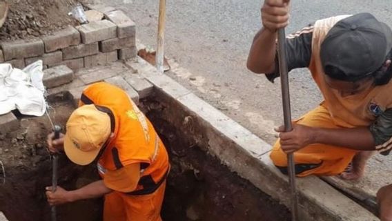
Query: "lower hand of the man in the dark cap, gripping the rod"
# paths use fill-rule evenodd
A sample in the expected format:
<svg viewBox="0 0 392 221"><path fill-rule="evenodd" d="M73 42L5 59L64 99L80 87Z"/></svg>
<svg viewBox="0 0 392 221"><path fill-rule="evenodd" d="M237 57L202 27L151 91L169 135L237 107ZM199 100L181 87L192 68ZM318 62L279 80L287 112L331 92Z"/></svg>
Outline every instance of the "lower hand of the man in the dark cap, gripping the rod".
<svg viewBox="0 0 392 221"><path fill-rule="evenodd" d="M284 126L280 126L275 131L280 132L280 146L285 153L293 153L313 144L315 138L314 128L295 123L293 123L293 131L284 132Z"/></svg>

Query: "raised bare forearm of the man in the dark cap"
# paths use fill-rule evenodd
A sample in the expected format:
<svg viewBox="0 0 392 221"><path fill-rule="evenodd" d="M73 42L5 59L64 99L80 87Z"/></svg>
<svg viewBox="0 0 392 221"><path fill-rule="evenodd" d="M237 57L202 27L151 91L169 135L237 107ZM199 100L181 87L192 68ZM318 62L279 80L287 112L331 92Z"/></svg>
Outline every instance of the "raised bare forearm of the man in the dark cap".
<svg viewBox="0 0 392 221"><path fill-rule="evenodd" d="M254 73L271 73L275 70L277 32L262 28L257 32L246 66Z"/></svg>

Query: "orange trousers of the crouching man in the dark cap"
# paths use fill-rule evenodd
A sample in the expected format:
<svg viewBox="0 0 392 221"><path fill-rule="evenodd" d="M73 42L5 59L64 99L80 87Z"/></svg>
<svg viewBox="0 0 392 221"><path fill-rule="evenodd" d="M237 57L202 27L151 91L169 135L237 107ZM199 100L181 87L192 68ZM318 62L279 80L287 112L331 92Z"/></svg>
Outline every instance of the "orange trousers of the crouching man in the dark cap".
<svg viewBox="0 0 392 221"><path fill-rule="evenodd" d="M319 128L342 128L334 124L328 110L318 106L306 113L295 123ZM327 144L311 144L294 153L295 169L298 177L307 175L337 175L349 166L356 153L350 148L332 146ZM287 169L287 155L280 148L277 140L271 152L271 160L278 168ZM310 166L308 166L310 165ZM298 173L300 171L300 173Z"/></svg>

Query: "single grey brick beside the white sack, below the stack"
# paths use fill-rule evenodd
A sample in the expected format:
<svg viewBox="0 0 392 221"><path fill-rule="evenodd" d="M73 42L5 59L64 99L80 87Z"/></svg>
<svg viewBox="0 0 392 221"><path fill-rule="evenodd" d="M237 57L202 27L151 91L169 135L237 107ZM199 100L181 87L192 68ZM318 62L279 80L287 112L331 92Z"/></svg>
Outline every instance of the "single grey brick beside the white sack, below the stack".
<svg viewBox="0 0 392 221"><path fill-rule="evenodd" d="M65 65L55 66L43 70L43 85L46 88L55 88L67 84L73 79L73 70Z"/></svg>

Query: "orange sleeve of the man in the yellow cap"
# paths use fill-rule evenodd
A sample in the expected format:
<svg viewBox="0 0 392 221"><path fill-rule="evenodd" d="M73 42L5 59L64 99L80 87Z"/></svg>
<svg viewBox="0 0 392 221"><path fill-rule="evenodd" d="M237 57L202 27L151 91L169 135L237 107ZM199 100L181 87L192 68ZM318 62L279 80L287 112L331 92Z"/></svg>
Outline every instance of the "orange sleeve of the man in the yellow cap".
<svg viewBox="0 0 392 221"><path fill-rule="evenodd" d="M106 171L105 185L115 191L128 193L134 191L140 179L140 164L129 164L115 171Z"/></svg>

